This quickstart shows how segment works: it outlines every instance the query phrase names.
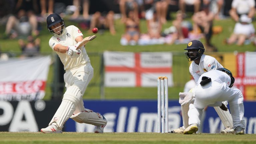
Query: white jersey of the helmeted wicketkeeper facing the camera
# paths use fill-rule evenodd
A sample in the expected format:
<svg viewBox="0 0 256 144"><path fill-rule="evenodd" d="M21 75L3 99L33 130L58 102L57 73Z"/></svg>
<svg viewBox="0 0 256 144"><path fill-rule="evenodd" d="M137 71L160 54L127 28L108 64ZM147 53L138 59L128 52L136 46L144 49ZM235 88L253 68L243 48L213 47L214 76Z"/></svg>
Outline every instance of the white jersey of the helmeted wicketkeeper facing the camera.
<svg viewBox="0 0 256 144"><path fill-rule="evenodd" d="M208 71L215 70L218 68L223 68L223 66L212 56L202 55L199 65L194 61L189 66L189 72L194 77L195 82L200 83L199 77Z"/></svg>

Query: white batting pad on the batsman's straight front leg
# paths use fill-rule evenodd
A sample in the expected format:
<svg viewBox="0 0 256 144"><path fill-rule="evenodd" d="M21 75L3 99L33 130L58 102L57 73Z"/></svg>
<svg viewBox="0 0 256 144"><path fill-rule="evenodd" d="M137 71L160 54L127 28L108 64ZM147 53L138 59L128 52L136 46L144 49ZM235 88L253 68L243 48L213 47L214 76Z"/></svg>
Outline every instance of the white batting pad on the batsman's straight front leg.
<svg viewBox="0 0 256 144"><path fill-rule="evenodd" d="M54 114L51 122L49 125L51 125L53 122L57 123L58 128L62 129L64 123L70 118L70 116L75 111L76 105L80 101L81 98L81 91L76 86L71 86L67 89L65 92L62 102Z"/></svg>

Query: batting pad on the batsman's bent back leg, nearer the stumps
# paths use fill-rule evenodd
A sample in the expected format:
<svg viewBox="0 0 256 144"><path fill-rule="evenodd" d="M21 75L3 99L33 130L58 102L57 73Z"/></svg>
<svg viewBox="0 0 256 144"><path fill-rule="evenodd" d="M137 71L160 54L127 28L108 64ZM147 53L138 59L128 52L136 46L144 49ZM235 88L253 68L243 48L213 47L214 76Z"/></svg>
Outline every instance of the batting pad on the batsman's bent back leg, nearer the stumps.
<svg viewBox="0 0 256 144"><path fill-rule="evenodd" d="M93 112L92 110L85 109L85 111L77 113L71 116L74 121L78 123L87 123L95 126L101 126L106 124L106 120L99 113Z"/></svg>

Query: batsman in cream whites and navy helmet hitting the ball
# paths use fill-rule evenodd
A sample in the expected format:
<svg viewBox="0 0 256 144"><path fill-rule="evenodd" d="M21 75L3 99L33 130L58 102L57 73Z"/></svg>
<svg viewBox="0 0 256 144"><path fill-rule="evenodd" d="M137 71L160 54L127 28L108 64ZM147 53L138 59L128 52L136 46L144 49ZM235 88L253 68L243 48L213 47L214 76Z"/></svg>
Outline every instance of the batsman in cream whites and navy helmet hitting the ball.
<svg viewBox="0 0 256 144"><path fill-rule="evenodd" d="M73 25L65 27L63 19L55 13L47 17L47 27L53 35L49 45L58 54L66 71L66 92L49 126L42 128L41 132L62 133L64 123L71 118L78 123L95 125L94 132L103 133L107 120L99 113L85 109L82 99L93 77L93 68L85 47L76 50L83 40L82 32Z"/></svg>

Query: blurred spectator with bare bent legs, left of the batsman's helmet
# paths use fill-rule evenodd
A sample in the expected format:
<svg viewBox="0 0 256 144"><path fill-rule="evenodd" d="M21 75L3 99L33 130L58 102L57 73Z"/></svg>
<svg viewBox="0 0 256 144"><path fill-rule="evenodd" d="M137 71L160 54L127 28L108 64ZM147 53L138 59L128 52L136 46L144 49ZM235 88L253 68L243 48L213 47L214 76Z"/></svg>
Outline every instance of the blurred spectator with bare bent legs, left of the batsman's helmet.
<svg viewBox="0 0 256 144"><path fill-rule="evenodd" d="M17 17L10 16L8 18L5 29L6 38L27 37L31 34L35 36L39 34L35 15L20 10Z"/></svg>

